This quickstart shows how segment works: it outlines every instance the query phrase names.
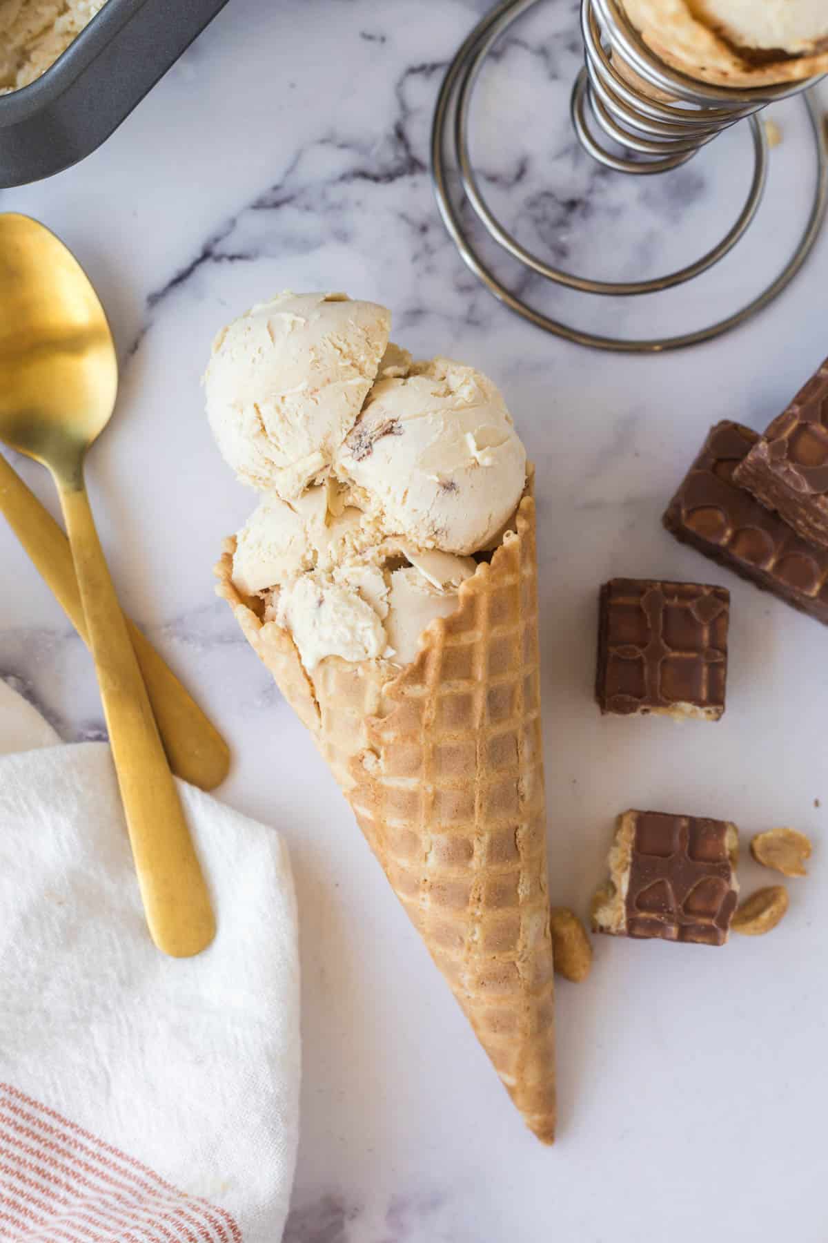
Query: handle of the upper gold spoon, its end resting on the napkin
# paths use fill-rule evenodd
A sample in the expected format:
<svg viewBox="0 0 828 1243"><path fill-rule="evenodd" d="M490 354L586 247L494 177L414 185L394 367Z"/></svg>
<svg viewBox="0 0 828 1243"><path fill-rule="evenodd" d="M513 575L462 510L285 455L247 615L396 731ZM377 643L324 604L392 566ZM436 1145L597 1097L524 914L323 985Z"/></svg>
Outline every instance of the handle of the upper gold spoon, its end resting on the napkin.
<svg viewBox="0 0 828 1243"><path fill-rule="evenodd" d="M150 936L186 958L210 945L210 895L161 747L78 469L56 475Z"/></svg>

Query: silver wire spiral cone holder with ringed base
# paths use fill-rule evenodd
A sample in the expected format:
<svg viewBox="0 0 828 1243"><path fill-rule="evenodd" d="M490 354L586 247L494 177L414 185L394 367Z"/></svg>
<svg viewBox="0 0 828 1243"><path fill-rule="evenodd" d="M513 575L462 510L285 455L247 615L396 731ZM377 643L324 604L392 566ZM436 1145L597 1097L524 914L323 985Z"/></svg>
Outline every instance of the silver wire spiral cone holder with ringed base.
<svg viewBox="0 0 828 1243"><path fill-rule="evenodd" d="M539 328L581 346L627 353L658 353L710 341L766 307L804 264L828 208L828 152L811 93L816 78L760 89L714 87L669 68L641 40L616 0L581 0L585 67L572 88L571 117L581 145L606 168L633 175L667 173L691 159L719 133L746 121L754 145L754 175L741 213L701 259L674 272L643 281L596 281L546 264L531 254L494 216L469 157L468 118L478 76L495 42L539 0L502 0L474 27L443 80L431 137L432 178L437 204L468 267L505 306ZM724 319L675 337L622 339L583 332L552 319L510 292L479 256L448 191L446 149L453 150L463 194L489 236L524 268L582 293L633 296L673 288L718 264L750 227L767 179L767 139L758 113L768 103L801 94L813 134L817 178L813 203L788 262L755 298ZM621 154L621 152L626 154Z"/></svg>

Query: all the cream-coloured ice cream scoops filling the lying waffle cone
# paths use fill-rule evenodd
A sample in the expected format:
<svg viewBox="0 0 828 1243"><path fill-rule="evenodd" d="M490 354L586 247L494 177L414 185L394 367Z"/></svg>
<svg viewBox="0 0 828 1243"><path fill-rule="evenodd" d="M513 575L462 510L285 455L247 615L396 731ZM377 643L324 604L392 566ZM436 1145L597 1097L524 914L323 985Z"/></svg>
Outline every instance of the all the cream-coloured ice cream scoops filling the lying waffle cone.
<svg viewBox="0 0 828 1243"><path fill-rule="evenodd" d="M223 456L264 495L232 578L322 660L405 666L511 520L526 454L500 393L415 363L391 317L344 295L282 295L218 334L205 375Z"/></svg>

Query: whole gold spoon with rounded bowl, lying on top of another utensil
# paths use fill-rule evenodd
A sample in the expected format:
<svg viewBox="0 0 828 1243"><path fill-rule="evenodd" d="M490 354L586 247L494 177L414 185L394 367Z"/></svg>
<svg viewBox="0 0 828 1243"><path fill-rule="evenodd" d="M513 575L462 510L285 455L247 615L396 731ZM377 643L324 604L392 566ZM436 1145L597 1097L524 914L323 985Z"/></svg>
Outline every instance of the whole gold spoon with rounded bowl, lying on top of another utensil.
<svg viewBox="0 0 828 1243"><path fill-rule="evenodd" d="M57 485L146 924L159 950L189 957L215 936L210 896L83 482L117 387L112 333L83 268L43 225L0 215L0 440Z"/></svg>

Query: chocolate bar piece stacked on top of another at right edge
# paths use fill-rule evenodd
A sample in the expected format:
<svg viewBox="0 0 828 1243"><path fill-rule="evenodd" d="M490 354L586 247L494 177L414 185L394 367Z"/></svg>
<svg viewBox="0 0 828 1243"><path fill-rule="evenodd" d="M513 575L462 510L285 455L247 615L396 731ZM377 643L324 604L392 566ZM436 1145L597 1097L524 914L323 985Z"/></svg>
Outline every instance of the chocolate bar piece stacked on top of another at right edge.
<svg viewBox="0 0 828 1243"><path fill-rule="evenodd" d="M756 441L735 481L803 539L828 548L828 359Z"/></svg>

